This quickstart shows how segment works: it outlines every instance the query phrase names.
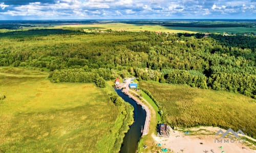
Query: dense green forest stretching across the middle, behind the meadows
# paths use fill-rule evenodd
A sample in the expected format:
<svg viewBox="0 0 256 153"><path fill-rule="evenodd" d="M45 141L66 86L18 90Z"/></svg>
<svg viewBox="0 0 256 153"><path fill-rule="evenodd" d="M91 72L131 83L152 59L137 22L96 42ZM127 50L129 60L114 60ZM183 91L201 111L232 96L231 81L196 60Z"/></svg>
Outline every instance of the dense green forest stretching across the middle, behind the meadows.
<svg viewBox="0 0 256 153"><path fill-rule="evenodd" d="M53 71L53 82L104 87L103 79L131 74L256 98L255 36L42 29L0 33L0 40L0 66Z"/></svg>

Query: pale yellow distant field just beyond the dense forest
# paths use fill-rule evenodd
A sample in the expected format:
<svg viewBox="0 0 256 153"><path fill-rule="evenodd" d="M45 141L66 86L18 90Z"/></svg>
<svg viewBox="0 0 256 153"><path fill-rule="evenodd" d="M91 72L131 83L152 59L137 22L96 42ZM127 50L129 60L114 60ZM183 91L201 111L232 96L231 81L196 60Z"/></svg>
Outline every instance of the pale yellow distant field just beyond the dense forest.
<svg viewBox="0 0 256 153"><path fill-rule="evenodd" d="M163 27L162 25L136 25L136 24L126 24L126 23L102 23L102 24L76 24L76 25L56 25L54 28L80 28L85 32L94 32L98 30L114 30L114 31L158 31L158 32L169 32L169 33L196 33L194 31L188 30L173 30L168 27Z"/></svg>

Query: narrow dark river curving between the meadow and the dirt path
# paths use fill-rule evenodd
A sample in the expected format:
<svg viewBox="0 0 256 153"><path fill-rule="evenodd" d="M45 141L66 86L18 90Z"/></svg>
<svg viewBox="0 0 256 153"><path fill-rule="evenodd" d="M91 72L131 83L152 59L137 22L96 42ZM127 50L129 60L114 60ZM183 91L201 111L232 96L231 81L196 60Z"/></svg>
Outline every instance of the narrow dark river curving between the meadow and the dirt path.
<svg viewBox="0 0 256 153"><path fill-rule="evenodd" d="M140 105L129 96L121 92L121 90L116 90L117 94L127 103L130 103L134 107L134 123L130 125L130 130L125 134L123 139L123 144L121 146L121 153L135 153L138 147L138 142L141 138L141 127L144 128L146 111L142 109Z"/></svg>

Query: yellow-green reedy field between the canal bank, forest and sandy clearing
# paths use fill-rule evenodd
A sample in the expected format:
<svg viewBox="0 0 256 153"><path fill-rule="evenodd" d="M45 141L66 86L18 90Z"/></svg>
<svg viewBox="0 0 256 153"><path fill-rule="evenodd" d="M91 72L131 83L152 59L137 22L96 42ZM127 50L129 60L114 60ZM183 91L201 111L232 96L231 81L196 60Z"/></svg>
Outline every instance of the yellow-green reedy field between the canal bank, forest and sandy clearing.
<svg viewBox="0 0 256 153"><path fill-rule="evenodd" d="M182 85L140 82L161 104L163 120L173 126L241 129L255 138L256 100L241 94Z"/></svg>

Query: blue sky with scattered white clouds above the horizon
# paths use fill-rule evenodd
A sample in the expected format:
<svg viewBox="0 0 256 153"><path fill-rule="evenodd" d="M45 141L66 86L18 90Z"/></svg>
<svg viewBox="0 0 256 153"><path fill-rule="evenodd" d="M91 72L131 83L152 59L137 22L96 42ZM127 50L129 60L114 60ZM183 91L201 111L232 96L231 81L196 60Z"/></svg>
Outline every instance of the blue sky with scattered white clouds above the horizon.
<svg viewBox="0 0 256 153"><path fill-rule="evenodd" d="M256 19L256 0L0 0L0 20Z"/></svg>

